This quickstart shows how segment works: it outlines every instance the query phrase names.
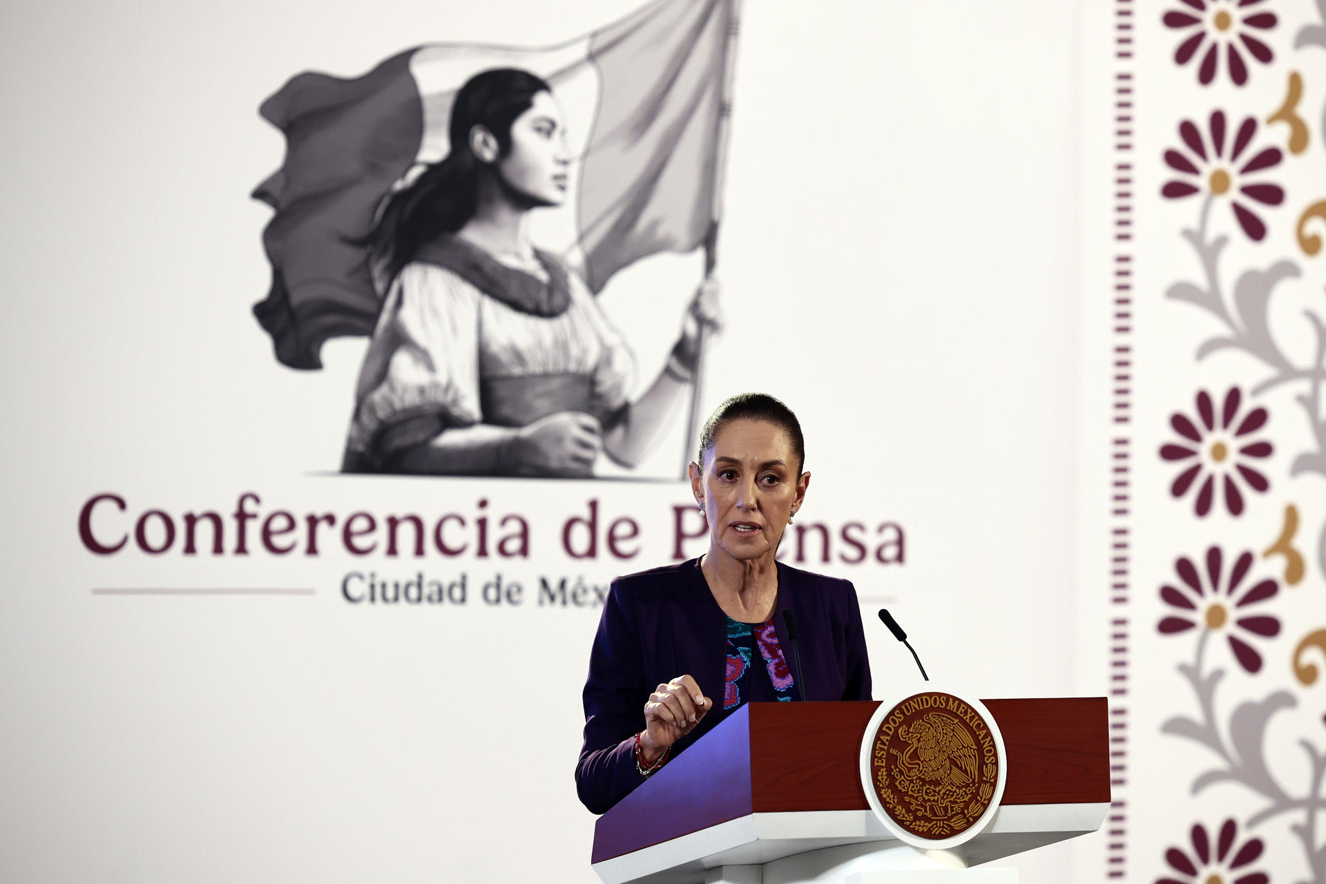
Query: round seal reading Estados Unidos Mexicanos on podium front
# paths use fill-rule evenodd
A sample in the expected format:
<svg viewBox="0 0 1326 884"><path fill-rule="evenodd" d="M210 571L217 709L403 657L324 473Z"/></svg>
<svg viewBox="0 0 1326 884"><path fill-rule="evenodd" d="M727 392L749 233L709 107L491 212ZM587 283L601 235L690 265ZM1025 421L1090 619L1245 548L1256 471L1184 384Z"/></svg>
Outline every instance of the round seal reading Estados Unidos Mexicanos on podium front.
<svg viewBox="0 0 1326 884"><path fill-rule="evenodd" d="M882 704L862 744L871 806L918 846L956 846L993 816L1004 741L979 700L927 691ZM964 835L967 838L964 838Z"/></svg>

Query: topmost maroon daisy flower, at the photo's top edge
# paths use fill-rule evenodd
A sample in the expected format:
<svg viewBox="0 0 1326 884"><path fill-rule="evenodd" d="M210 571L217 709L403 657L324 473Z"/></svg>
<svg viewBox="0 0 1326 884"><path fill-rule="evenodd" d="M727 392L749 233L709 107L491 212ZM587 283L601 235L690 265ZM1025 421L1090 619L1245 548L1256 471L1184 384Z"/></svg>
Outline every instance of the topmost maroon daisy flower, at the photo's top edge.
<svg viewBox="0 0 1326 884"><path fill-rule="evenodd" d="M1229 66L1229 80L1236 86L1248 82L1248 65L1244 62L1238 44L1261 64L1269 64L1274 57L1270 46L1252 36L1252 30L1268 30L1276 27L1274 12L1248 9L1262 0L1181 0L1187 9L1171 9L1164 13L1167 28L1183 32L1183 40L1175 49L1174 60L1185 65L1195 58L1203 46L1201 64L1197 65L1197 81L1207 86L1216 78L1220 54L1224 49Z"/></svg>

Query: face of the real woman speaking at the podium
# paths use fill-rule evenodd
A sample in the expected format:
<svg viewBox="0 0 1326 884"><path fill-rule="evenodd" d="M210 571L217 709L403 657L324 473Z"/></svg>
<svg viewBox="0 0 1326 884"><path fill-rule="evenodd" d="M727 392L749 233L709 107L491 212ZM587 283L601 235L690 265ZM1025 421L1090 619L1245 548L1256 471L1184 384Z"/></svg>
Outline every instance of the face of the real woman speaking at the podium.
<svg viewBox="0 0 1326 884"><path fill-rule="evenodd" d="M792 439L764 420L729 420L691 465L691 489L709 520L709 549L736 559L772 555L801 508L810 473L797 474Z"/></svg>

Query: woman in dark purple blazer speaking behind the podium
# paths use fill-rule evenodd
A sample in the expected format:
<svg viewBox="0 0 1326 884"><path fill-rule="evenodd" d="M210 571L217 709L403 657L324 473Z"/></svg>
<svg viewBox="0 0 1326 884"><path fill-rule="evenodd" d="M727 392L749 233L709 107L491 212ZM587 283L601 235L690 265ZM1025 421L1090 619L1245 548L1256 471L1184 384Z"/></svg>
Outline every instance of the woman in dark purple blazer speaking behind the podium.
<svg viewBox="0 0 1326 884"><path fill-rule="evenodd" d="M774 561L810 485L801 424L764 394L709 416L691 490L699 559L613 582L585 683L581 801L602 814L741 704L870 700L857 591Z"/></svg>

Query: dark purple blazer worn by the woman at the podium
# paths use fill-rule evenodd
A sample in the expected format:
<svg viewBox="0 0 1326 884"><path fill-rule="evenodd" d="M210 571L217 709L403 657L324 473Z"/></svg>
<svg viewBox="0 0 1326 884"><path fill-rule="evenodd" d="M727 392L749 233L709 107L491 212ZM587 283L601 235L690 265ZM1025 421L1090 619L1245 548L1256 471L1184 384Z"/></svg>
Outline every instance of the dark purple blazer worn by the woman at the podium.
<svg viewBox="0 0 1326 884"><path fill-rule="evenodd" d="M800 675L782 618L786 608L797 622ZM871 698L866 635L850 582L780 562L773 623L806 700ZM575 765L575 790L593 812L606 812L644 782L634 757L635 734L644 730L644 704L660 683L680 675L693 677L715 708L672 746L672 758L735 712L723 710L727 615L699 559L613 580L590 651L585 744ZM752 671L752 683L761 675ZM800 689L792 691L800 698ZM761 698L758 691L754 696Z"/></svg>

